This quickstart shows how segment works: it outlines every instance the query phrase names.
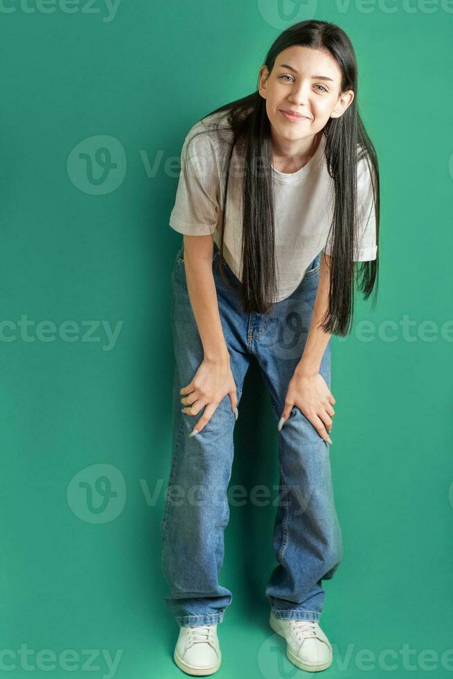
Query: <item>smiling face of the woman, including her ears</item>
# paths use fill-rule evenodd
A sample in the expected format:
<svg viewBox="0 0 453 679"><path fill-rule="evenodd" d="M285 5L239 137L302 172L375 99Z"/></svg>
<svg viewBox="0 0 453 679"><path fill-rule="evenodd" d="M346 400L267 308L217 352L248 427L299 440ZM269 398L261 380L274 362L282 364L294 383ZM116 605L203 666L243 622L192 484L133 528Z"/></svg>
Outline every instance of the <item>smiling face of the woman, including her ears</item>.
<svg viewBox="0 0 453 679"><path fill-rule="evenodd" d="M274 132L287 141L314 136L346 111L354 93L341 94L340 86L341 71L330 53L301 45L283 50L271 73L261 67L258 80ZM304 117L288 118L283 111Z"/></svg>

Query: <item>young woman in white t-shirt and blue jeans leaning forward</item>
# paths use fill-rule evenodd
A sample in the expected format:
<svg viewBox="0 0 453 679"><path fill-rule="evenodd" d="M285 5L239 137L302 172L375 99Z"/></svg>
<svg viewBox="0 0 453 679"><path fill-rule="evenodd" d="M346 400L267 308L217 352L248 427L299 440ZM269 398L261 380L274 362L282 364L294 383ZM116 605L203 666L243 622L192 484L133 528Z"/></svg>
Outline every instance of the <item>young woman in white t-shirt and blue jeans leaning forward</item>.
<svg viewBox="0 0 453 679"><path fill-rule="evenodd" d="M170 226L172 464L161 524L175 662L220 667L232 599L217 574L229 521L233 427L251 356L278 423L281 487L266 594L287 656L326 669L323 579L341 561L329 451L330 336L346 335L355 285L377 290L379 172L357 110L357 64L338 26L302 21L267 53L258 89L186 136ZM173 491L176 497L172 497Z"/></svg>

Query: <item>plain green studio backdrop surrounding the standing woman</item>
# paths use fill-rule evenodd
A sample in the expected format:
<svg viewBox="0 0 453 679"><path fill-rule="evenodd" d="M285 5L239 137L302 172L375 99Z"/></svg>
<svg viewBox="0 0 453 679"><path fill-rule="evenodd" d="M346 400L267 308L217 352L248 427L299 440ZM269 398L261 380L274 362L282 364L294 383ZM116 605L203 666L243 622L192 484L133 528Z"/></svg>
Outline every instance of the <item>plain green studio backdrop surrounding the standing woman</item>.
<svg viewBox="0 0 453 679"><path fill-rule="evenodd" d="M34 676L107 676L107 652L120 654L117 678L183 676L172 660L178 630L163 602L159 532L179 153L199 118L256 89L281 30L317 18L339 24L355 46L359 110L382 182L377 307L357 298L349 337L332 339L330 452L344 559L324 583L328 674L452 676L453 652L449 665L441 656L453 649L453 8L2 8L1 669L30 676L24 644ZM97 164L99 146L110 157ZM359 334L362 321L371 340ZM109 344L105 328L116 324ZM256 364L235 443L231 486L278 484L277 432ZM233 602L219 628L219 677L302 676L267 624L275 511L231 504L220 581ZM380 656L386 649L393 658Z"/></svg>

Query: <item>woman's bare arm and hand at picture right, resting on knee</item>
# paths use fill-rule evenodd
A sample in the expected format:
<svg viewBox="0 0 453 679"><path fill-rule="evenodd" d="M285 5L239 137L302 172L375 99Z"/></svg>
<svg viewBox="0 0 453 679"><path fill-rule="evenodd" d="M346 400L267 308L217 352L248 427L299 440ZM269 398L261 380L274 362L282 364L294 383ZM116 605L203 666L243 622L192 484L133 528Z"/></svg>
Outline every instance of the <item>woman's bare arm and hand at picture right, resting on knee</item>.
<svg viewBox="0 0 453 679"><path fill-rule="evenodd" d="M302 358L297 364L294 375L290 380L285 398L285 409L277 428L278 431L281 430L281 427L283 427L283 424L289 418L292 408L296 405L305 417L310 420L319 436L330 444L332 443L329 436L332 429L332 416L335 415L332 405L335 403L335 398L333 398L326 380L319 373L323 353L326 351L326 346L332 334L325 333L319 327L321 319L328 308L329 287L330 257L323 252L310 330L308 331Z"/></svg>

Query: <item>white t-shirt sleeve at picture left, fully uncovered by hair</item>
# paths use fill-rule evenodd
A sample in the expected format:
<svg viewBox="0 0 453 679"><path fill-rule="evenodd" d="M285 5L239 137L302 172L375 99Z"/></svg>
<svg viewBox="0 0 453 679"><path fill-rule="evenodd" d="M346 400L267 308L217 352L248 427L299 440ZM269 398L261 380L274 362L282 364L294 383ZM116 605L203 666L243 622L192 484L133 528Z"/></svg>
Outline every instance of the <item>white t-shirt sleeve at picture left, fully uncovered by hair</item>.
<svg viewBox="0 0 453 679"><path fill-rule="evenodd" d="M219 214L219 173L213 141L190 130L181 150L181 172L170 227L188 236L215 231Z"/></svg>

